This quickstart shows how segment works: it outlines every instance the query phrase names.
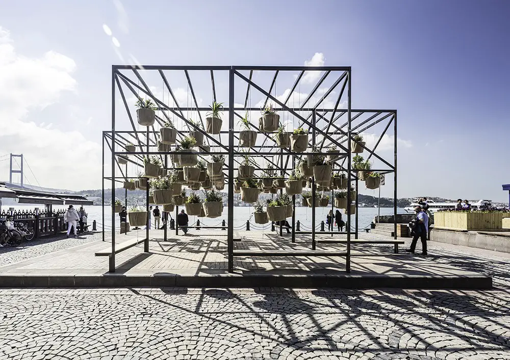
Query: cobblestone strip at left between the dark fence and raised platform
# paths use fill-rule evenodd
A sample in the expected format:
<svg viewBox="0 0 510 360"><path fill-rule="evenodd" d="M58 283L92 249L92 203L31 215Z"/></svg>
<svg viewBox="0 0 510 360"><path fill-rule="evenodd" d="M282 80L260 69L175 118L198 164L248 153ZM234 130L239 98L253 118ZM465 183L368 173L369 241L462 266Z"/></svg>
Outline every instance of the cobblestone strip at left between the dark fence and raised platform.
<svg viewBox="0 0 510 360"><path fill-rule="evenodd" d="M105 235L108 235L108 233L105 233ZM65 234L59 234L47 238L23 241L17 247L0 246L0 266L54 253L59 250L101 240L102 238L103 233L101 232L89 233L77 238L72 237L72 235L66 238Z"/></svg>

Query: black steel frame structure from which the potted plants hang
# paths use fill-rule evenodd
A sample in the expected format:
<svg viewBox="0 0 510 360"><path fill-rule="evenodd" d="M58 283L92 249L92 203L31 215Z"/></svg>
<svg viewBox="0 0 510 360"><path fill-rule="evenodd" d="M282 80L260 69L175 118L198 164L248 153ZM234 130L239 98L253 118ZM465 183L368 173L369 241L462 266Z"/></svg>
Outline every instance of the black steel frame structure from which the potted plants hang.
<svg viewBox="0 0 510 360"><path fill-rule="evenodd" d="M312 91L305 96L304 101L299 103L288 105L288 102L297 90L300 81L303 80L303 76L308 71L320 72L318 80L313 86ZM168 92L168 102L164 101L157 94L155 94L154 88L150 88L147 85L147 81L142 77L142 73L151 72L158 76L159 81L163 84L163 89ZM187 80L188 93L191 93L192 106L180 106L179 101L175 96L170 81L168 80L166 72L184 72ZM269 90L265 90L260 84L257 84L253 80L253 74L258 72L270 72L272 81ZM279 74L284 72L298 72L295 75L295 80L290 88L285 99L283 97L277 97L275 95L275 84ZM208 80L210 81L212 100L216 101L217 85L215 85L215 75L218 73L228 74L228 101L225 106L225 113L228 115L228 120L225 124L223 122L222 131L219 135L211 135L203 130L203 119L202 113L209 110L208 107L199 106L197 96L194 92L193 82L191 80L191 73L196 76L196 73L200 73L202 85L203 85L203 74L205 73ZM152 75L154 75L152 74ZM324 86L326 78L334 81L331 82L330 86L326 89L321 89ZM246 252L236 252L234 250L234 179L235 179L235 166L240 164L239 158L243 155L249 155L254 158L259 158L265 161L267 164L272 165L272 169L279 171L281 175L290 174L290 171L295 168L297 160L302 156L312 154L323 154L326 155L325 148L329 146L336 146L340 150L343 159L338 161L334 167L334 172L345 172L348 175L348 189L351 188L352 183L355 185L356 197L351 199L351 191L347 191L347 227L346 232L343 234L347 235L346 251L345 252L316 252L316 230L315 230L315 199L316 199L316 184L313 177L311 178L312 183L312 231L308 232L312 235L311 252L261 252L252 253L250 256L310 256L312 254L318 254L318 256L342 256L346 258L346 271L350 272L350 261L351 261L351 237L358 238L358 170L352 167L352 156L355 154L351 153L352 144L361 145L366 153L368 153L368 159L372 156L378 159L384 168L373 169L381 174L393 173L394 178L394 215L397 213L397 110L395 109L352 109L351 108L351 68L341 66L321 66L321 67L310 67L310 66L141 66L141 65L113 65L112 66L112 114L111 114L111 129L103 131L103 203L105 203L105 181L109 181L112 190L112 204L115 202L115 188L116 183L122 183L126 179L138 178L136 175L128 176L127 165L123 168L118 163L118 155L130 155L129 163L135 164L143 168L143 158L149 155L160 156L164 169L172 170L173 165L169 166L168 155L175 154L175 151L160 152L158 151L157 141L158 133L156 128L162 126L165 120L169 120L171 116L173 119L177 119L181 122L181 128L177 128L179 131L179 138L187 135L190 131L200 131L204 134L205 142L209 148L201 147L198 149L196 154L198 157L205 157L207 155L223 154L226 156L227 161L223 168L225 175L225 184L227 187L227 255L228 255L228 271L234 271L234 257L235 256L248 256ZM209 80L210 78L210 80ZM236 81L239 81L243 86L236 86ZM241 91L236 89L240 88ZM132 106L134 103L128 103L129 99L126 97L125 91L129 91L134 95L135 99L151 99L156 106L158 111L156 114L156 123L151 127L146 127L144 130L137 130L135 125L135 117L132 114ZM273 108L277 110L279 114L287 114L292 116L293 119L297 120L298 126L308 128L310 136L309 149L307 152L294 153L289 148L279 149L276 148L274 141L272 140L271 134L260 132L259 139L263 139L261 142L258 141L258 145L254 145L251 148L241 150L237 144L236 139L239 139L239 130L235 128L236 119L242 117L244 111L257 111L260 107L250 106L251 101L248 102L251 91L257 91L265 97L264 105L268 102L272 103ZM274 93L272 95L271 93ZM245 95L244 95L245 94ZM324 106L324 100L332 94L338 94L334 102L334 106ZM188 94L189 96L189 94ZM171 99L170 99L171 97ZM235 102L236 97L242 97L244 106ZM220 99L218 99L220 101ZM315 103L313 103L315 101ZM294 101L295 102L295 101ZM343 106L340 106L340 105ZM123 105L123 106L121 106ZM131 105L131 106L130 106ZM121 106L125 108L125 113L117 114L116 108ZM131 109L130 109L131 108ZM194 112L197 115L198 120L202 124L202 127L196 123L189 121L184 112ZM302 115L302 114L305 115ZM129 120L129 130L119 129L117 122L120 119ZM379 134L378 140L375 145L371 148L354 141L353 137L355 134L363 133L364 131L372 128L378 123L387 123L384 130ZM226 126L225 126L226 125ZM388 130L393 126L393 163L382 157L378 152L377 148L387 135ZM226 131L225 131L226 127ZM259 130L256 125L251 124L253 130ZM222 137L223 135L223 137ZM227 136L225 144L224 136ZM391 137L390 137L391 139ZM375 141L375 133L374 133ZM136 146L135 152L126 152L119 150L127 143L133 143ZM111 160L110 174L106 174L106 163L105 163L105 145L108 147L107 152L111 154L109 160ZM218 150L211 150L211 148L217 148ZM312 152L311 149L319 149L318 152ZM277 151L276 151L277 149ZM172 149L173 150L173 149ZM271 160L268 157L271 156ZM262 163L256 164L256 172L268 170ZM281 192L282 190L280 190ZM333 195L333 192L331 193ZM149 186L146 189L146 210L149 210ZM292 215L292 242L295 242L295 234L299 233L295 230L295 196L293 199L294 213ZM127 190L125 191L125 204L127 205ZM351 206L354 200L355 205L355 225L354 230L351 230ZM333 209L333 205L331 206ZM177 210L178 211L178 208ZM165 217L166 214L164 214ZM115 212L112 206L112 254L110 256L110 272L115 271ZM394 216L394 238L396 239L396 216ZM105 212L103 210L103 224L105 224ZM167 239L167 227L165 227L164 238ZM177 232L176 227L176 232ZM282 235L282 226L279 228L279 233ZM307 233L307 232L302 232ZM325 233L331 234L333 233ZM105 240L105 227L103 226L103 240ZM331 243L333 241L328 241ZM344 240L345 242L345 240ZM144 252L149 251L149 230L147 227L146 238L144 240Z"/></svg>

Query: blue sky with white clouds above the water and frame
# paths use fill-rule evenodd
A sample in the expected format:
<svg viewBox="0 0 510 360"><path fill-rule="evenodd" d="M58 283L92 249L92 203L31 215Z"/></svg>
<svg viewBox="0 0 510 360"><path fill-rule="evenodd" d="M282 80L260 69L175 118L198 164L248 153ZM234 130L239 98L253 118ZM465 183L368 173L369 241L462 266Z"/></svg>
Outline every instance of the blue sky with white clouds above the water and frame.
<svg viewBox="0 0 510 360"><path fill-rule="evenodd" d="M2 156L23 153L25 182L101 187L112 64L310 64L352 67L353 108L397 109L398 197L507 199L510 2L141 5L0 3L0 179L9 176ZM161 81L153 85L161 91ZM277 96L290 87L278 86ZM186 101L185 87L181 93ZM203 92L201 103L209 96ZM391 147L382 151L393 158ZM381 195L392 194L389 181Z"/></svg>

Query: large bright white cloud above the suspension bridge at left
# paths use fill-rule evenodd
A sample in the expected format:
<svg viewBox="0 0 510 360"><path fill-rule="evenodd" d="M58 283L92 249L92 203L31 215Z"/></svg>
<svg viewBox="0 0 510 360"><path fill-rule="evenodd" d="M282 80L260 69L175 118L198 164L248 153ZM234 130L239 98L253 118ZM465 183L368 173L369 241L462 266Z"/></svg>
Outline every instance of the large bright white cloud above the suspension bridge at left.
<svg viewBox="0 0 510 360"><path fill-rule="evenodd" d="M17 54L9 32L0 27L0 119L9 119L0 121L0 154L23 154L41 186L78 190L100 184L101 146L67 131L68 114L39 126L25 119L75 90L75 68L72 59L55 51L39 58Z"/></svg>

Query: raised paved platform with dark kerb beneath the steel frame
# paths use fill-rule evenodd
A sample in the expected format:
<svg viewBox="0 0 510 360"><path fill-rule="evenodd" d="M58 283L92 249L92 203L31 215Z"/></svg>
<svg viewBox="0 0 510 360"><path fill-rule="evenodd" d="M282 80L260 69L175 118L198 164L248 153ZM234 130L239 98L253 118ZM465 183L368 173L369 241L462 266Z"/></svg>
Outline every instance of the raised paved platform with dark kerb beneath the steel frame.
<svg viewBox="0 0 510 360"><path fill-rule="evenodd" d="M151 230L149 253L138 244L116 255L117 271L108 272L108 257L94 254L109 242L88 244L0 267L0 287L287 287L287 288L403 288L489 289L492 278L419 256L393 254L393 245L352 245L351 272L345 244L317 244L320 256L310 255L311 236L280 237L262 231L239 232L235 251L301 252L299 257L242 256L227 272L227 244L221 230L199 230L163 241L163 231ZM118 243L144 238L145 231L118 235ZM331 239L328 235L318 238ZM334 239L345 238L336 235ZM360 234L370 239L370 234ZM402 239L403 240L403 239Z"/></svg>

